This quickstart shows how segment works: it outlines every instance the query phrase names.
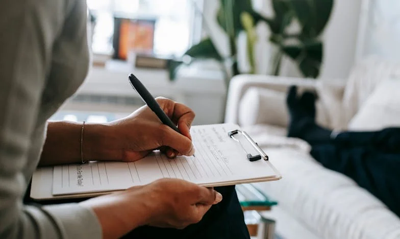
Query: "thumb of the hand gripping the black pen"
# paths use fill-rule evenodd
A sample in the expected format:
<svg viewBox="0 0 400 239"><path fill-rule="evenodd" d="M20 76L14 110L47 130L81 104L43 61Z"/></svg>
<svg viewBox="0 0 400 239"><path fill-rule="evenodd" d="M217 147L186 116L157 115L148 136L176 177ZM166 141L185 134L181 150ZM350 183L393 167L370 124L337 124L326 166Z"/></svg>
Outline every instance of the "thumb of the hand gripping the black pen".
<svg viewBox="0 0 400 239"><path fill-rule="evenodd" d="M186 156L192 156L194 154L192 140L188 137L174 131L166 125L161 127L161 131L160 140L162 146L169 146Z"/></svg>

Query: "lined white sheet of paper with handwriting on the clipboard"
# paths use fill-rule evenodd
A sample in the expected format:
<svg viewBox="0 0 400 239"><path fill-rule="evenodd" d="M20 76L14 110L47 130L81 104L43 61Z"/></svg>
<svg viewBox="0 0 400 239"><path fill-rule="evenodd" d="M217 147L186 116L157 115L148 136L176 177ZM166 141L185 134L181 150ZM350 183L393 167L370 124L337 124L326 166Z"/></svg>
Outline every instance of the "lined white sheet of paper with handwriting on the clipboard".
<svg viewBox="0 0 400 239"><path fill-rule="evenodd" d="M53 195L127 189L161 178L212 184L274 176L275 172L263 160L247 160L246 152L254 150L252 147L245 152L228 136L228 131L237 127L230 124L192 127L195 157L168 159L156 151L136 162L97 161L55 166Z"/></svg>

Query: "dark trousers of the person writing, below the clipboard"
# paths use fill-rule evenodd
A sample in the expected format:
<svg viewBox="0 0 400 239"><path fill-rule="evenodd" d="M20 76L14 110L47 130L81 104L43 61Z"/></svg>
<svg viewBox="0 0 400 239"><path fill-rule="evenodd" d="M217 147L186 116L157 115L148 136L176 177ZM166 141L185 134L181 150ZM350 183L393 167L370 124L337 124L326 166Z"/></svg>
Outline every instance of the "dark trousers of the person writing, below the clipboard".
<svg viewBox="0 0 400 239"><path fill-rule="evenodd" d="M199 223L181 230L144 226L131 231L123 238L250 239L235 186L215 187L214 189L222 194L222 201L213 205ZM60 200L50 203L79 202L80 200ZM25 202L32 203L27 197Z"/></svg>

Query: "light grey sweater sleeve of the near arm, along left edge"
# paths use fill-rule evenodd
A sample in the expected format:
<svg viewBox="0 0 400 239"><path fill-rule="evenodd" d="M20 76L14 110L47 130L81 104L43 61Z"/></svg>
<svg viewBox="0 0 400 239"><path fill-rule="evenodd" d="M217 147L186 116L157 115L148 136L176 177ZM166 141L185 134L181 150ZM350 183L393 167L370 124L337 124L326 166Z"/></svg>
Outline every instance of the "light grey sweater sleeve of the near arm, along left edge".
<svg viewBox="0 0 400 239"><path fill-rule="evenodd" d="M101 238L101 225L89 208L72 203L35 207L22 201L27 186L23 170L54 42L72 11L81 19L76 22L86 25L86 1L5 0L2 6L0 238Z"/></svg>

